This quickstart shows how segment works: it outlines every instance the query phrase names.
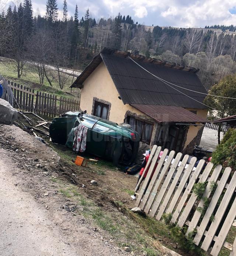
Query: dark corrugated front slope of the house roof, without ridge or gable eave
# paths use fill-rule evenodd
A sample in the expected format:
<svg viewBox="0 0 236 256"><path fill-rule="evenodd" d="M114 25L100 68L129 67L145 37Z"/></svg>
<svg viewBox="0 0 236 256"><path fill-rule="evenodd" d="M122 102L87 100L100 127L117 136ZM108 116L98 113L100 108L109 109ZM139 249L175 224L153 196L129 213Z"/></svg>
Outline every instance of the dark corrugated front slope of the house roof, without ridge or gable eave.
<svg viewBox="0 0 236 256"><path fill-rule="evenodd" d="M146 105L169 105L204 109L201 103L205 95L191 92L178 87L171 88L153 75L149 74L131 59L116 55L101 54L109 73L117 87L124 104L136 103ZM162 65L137 61L149 72L156 76L182 86L186 89L204 92L206 90L196 74L178 69L168 68ZM190 96L183 95L181 92Z"/></svg>

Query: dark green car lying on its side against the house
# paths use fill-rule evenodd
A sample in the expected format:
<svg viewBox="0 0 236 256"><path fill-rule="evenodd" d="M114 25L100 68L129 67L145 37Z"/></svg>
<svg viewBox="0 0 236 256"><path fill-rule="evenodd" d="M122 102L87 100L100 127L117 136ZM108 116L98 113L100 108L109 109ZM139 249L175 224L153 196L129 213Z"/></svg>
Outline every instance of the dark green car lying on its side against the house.
<svg viewBox="0 0 236 256"><path fill-rule="evenodd" d="M88 128L87 153L112 160L114 165L129 165L135 160L139 134L129 124L117 124L86 112L67 112L53 119L49 130L52 141L72 148L73 129L79 123Z"/></svg>

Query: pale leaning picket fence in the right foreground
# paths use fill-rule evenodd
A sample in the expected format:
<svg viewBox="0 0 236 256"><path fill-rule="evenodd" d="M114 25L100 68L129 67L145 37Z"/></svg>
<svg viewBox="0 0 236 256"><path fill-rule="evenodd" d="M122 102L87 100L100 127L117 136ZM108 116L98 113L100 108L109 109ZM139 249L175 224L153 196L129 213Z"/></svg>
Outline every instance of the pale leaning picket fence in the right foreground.
<svg viewBox="0 0 236 256"><path fill-rule="evenodd" d="M236 239L233 245L225 241L231 226L236 226L236 172L233 173L227 167L222 174L222 166L213 168L212 163L208 163L203 170L204 160L200 160L197 167L194 167L196 157L192 157L187 164L188 155L176 155L175 151L169 153L168 149L163 151L158 160L160 151L161 147L154 146L152 149L145 167L149 171L139 191L136 205L158 221L163 219L165 213L169 214L174 225L180 228L187 225L185 235L192 231L193 242L196 245L201 243L201 248L205 251L211 248L211 255L217 256L222 246L236 255ZM135 190L142 180L143 177ZM192 192L197 183L205 186L200 198ZM215 190L212 188L214 184L217 184ZM205 206L206 199L209 200L209 205ZM201 211L203 207L207 207L206 211Z"/></svg>

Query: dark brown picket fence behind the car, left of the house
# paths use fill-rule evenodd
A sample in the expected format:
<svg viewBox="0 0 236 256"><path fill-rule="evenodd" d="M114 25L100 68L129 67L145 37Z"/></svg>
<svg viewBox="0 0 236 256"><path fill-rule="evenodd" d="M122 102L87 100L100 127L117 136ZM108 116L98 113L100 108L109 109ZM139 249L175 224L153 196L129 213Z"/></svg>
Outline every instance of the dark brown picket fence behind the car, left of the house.
<svg viewBox="0 0 236 256"><path fill-rule="evenodd" d="M68 99L49 93L36 92L26 86L7 81L13 91L14 107L22 111L36 111L39 115L55 117L67 111L79 110L79 99Z"/></svg>

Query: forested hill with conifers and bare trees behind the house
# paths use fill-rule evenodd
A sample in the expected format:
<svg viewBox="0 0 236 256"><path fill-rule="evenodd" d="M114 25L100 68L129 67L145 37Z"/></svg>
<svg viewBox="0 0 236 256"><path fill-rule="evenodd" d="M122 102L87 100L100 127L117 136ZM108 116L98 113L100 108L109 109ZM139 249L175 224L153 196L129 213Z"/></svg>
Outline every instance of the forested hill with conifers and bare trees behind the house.
<svg viewBox="0 0 236 256"><path fill-rule="evenodd" d="M39 78L45 64L83 69L103 47L140 54L199 68L208 89L235 72L236 27L173 28L134 23L131 16L95 20L89 9L83 17L75 6L68 17L64 0L62 17L56 0L48 0L45 17L33 17L31 0L11 5L0 14L0 55L16 60L18 77L27 60L37 63Z"/></svg>

